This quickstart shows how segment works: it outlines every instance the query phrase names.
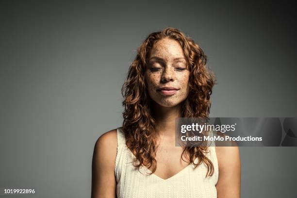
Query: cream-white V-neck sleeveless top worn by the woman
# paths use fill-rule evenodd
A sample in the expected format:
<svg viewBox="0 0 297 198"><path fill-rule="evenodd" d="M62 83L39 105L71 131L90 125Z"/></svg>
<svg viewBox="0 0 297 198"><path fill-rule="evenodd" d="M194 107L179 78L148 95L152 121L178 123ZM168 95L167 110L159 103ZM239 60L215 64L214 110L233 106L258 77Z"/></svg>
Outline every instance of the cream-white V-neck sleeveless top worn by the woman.
<svg viewBox="0 0 297 198"><path fill-rule="evenodd" d="M207 177L207 166L202 163L196 169L189 164L176 175L162 179L145 167L132 165L135 158L126 146L124 132L117 128L117 153L115 159L115 178L117 198L216 198L218 164L215 147L208 147L206 156L214 164L214 174ZM212 143L213 144L213 143ZM196 158L195 163L198 163Z"/></svg>

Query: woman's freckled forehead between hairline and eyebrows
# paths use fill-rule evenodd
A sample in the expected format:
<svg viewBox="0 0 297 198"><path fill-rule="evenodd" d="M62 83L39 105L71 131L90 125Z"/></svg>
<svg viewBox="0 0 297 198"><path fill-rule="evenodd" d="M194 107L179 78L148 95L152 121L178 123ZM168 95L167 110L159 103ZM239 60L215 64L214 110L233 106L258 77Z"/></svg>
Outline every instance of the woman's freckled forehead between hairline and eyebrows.
<svg viewBox="0 0 297 198"><path fill-rule="evenodd" d="M184 57L181 44L170 38L158 40L150 50L149 57L157 56L165 60L171 60L177 57Z"/></svg>

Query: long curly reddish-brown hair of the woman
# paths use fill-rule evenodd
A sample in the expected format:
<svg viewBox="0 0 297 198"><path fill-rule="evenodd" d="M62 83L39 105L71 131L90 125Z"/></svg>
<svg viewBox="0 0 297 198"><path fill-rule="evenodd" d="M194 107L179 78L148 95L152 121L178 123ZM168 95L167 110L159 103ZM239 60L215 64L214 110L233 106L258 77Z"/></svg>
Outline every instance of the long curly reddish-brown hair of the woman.
<svg viewBox="0 0 297 198"><path fill-rule="evenodd" d="M194 40L176 28L165 28L160 32L151 33L138 47L134 61L131 63L128 76L122 87L123 95L123 125L126 145L135 156L135 167L145 165L152 167L152 173L156 171L156 120L151 109L152 99L148 95L145 82L145 71L148 64L149 52L154 44L163 38L171 38L178 41L183 49L188 69L189 95L182 101L181 117L208 118L211 107L210 95L215 84L215 77L206 67L207 56ZM195 168L205 163L207 165L206 177L214 173L214 165L206 157L207 146L185 147L181 154L189 156L188 162ZM194 160L198 158L198 164ZM184 160L183 160L184 161ZM151 173L151 174L152 174Z"/></svg>

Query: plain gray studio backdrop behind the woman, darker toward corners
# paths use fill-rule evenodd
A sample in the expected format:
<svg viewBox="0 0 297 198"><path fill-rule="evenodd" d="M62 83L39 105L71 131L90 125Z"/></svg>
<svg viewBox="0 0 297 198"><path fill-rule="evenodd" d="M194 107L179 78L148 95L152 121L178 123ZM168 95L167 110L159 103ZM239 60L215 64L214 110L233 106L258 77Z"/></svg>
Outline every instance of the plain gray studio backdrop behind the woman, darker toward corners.
<svg viewBox="0 0 297 198"><path fill-rule="evenodd" d="M291 2L0 1L0 188L91 193L97 138L148 33L176 27L209 57L213 117L297 117ZM242 198L296 198L296 147L240 148Z"/></svg>

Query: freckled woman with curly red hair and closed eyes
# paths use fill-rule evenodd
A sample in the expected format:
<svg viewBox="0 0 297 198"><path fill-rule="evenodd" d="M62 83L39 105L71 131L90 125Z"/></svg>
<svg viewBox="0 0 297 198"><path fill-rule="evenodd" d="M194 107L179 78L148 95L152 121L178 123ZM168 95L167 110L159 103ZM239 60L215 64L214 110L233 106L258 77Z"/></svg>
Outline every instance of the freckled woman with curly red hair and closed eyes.
<svg viewBox="0 0 297 198"><path fill-rule="evenodd" d="M238 147L175 147L175 119L208 117L213 86L191 38L148 35L122 88L123 126L96 142L92 198L239 198Z"/></svg>

